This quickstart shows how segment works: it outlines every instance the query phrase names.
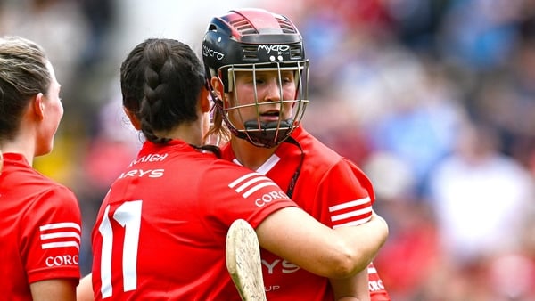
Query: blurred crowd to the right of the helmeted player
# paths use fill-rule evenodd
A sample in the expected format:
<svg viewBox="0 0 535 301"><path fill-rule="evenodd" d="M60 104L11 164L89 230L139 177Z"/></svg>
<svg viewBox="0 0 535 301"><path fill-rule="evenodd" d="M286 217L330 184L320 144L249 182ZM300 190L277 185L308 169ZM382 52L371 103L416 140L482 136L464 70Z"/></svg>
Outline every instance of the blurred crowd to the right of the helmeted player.
<svg viewBox="0 0 535 301"><path fill-rule="evenodd" d="M284 2L274 10L287 8ZM305 126L372 178L394 300L535 300L535 1L302 1Z"/></svg>

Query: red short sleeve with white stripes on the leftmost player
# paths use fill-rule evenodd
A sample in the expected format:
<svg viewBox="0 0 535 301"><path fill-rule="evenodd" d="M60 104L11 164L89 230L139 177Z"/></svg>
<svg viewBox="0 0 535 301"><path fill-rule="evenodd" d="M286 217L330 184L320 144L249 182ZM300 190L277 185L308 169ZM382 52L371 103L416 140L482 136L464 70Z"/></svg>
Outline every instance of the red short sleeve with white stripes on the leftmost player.
<svg viewBox="0 0 535 301"><path fill-rule="evenodd" d="M81 215L74 193L63 186L45 190L23 215L19 248L29 283L79 279Z"/></svg>

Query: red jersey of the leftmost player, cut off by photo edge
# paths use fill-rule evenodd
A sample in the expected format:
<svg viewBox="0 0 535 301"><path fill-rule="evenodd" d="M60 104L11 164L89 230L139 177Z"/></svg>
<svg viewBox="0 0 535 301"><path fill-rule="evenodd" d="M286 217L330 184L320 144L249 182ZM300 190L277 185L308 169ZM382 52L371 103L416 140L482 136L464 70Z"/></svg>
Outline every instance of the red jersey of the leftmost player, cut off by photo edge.
<svg viewBox="0 0 535 301"><path fill-rule="evenodd" d="M0 175L0 296L31 300L29 284L78 281L81 216L74 193L4 153Z"/></svg>

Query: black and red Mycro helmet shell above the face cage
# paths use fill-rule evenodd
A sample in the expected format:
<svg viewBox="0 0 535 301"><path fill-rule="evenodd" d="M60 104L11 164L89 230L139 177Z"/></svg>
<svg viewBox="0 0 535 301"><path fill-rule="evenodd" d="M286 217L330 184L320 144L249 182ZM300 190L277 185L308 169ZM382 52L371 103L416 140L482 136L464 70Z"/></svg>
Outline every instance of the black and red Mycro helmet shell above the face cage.
<svg viewBox="0 0 535 301"><path fill-rule="evenodd" d="M259 63L294 66L306 57L302 37L291 20L265 10L243 9L210 21L202 41L202 60L207 77L221 71L228 92L226 70L219 70L223 67ZM262 66L266 65L257 68Z"/></svg>

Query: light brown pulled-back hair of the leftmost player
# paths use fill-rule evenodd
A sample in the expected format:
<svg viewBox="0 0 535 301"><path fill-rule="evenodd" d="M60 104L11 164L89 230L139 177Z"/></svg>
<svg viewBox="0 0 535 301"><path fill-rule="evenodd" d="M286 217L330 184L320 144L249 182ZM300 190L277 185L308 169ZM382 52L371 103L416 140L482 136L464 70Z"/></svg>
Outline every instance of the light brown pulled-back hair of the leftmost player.
<svg viewBox="0 0 535 301"><path fill-rule="evenodd" d="M0 141L12 139L31 96L46 94L52 77L45 50L23 37L0 37Z"/></svg>

